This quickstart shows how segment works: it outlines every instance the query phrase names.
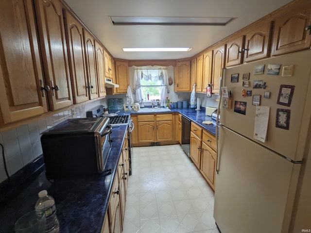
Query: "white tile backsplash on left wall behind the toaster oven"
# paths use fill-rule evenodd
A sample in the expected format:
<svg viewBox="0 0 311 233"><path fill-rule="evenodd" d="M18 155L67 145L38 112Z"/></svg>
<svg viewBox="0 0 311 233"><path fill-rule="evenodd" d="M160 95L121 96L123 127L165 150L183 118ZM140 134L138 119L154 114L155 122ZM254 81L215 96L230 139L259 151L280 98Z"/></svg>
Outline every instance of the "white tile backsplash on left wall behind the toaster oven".
<svg viewBox="0 0 311 233"><path fill-rule="evenodd" d="M106 100L102 99L83 104L73 108L73 111L67 109L58 114L0 133L0 143L4 146L5 161L9 175L13 175L20 168L42 154L40 133L65 119L86 117L86 111L100 104L106 104ZM72 112L74 116L72 116ZM6 178L2 159L2 148L0 147L0 183Z"/></svg>

